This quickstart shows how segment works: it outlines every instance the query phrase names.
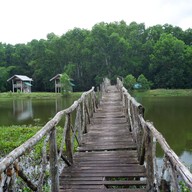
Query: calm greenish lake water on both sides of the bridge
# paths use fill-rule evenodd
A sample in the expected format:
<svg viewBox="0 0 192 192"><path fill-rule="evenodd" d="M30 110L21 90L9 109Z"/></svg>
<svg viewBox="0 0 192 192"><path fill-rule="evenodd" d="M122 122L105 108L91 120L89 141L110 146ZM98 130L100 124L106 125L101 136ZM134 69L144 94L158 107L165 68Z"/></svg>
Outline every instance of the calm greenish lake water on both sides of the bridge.
<svg viewBox="0 0 192 192"><path fill-rule="evenodd" d="M0 126L44 125L77 98L0 100ZM192 97L143 97L145 119L152 121L171 148L192 171ZM157 151L162 161L162 151Z"/></svg>

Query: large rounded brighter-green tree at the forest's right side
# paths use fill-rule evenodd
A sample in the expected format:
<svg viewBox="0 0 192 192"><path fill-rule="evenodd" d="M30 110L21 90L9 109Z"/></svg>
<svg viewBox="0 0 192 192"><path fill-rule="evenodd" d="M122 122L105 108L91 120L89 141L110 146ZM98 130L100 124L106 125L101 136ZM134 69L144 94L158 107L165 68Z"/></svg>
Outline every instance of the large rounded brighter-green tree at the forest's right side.
<svg viewBox="0 0 192 192"><path fill-rule="evenodd" d="M150 55L149 72L155 87L181 88L184 86L185 48L183 41L172 34L162 34Z"/></svg>

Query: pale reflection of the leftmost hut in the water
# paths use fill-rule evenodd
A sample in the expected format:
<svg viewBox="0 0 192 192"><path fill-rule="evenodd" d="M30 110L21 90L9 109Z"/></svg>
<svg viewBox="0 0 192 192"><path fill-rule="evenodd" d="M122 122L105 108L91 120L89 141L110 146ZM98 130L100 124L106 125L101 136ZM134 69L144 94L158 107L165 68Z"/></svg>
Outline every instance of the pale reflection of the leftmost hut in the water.
<svg viewBox="0 0 192 192"><path fill-rule="evenodd" d="M33 118L33 108L31 99L13 100L13 115L18 121Z"/></svg>

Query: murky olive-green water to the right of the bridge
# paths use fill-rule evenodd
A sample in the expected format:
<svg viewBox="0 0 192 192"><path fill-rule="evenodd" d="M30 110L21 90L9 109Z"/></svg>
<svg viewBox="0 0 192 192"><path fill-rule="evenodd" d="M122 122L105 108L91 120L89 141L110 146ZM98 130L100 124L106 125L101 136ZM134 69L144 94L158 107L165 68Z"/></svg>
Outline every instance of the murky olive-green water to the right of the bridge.
<svg viewBox="0 0 192 192"><path fill-rule="evenodd" d="M145 119L154 123L181 161L192 171L192 97L143 97ZM157 150L160 161L163 152Z"/></svg>

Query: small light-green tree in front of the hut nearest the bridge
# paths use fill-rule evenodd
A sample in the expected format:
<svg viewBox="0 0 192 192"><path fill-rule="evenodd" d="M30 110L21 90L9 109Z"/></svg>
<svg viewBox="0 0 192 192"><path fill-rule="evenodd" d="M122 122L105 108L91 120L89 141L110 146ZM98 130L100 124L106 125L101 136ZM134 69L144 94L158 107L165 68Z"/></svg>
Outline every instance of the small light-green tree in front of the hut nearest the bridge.
<svg viewBox="0 0 192 192"><path fill-rule="evenodd" d="M60 77L61 82L61 93L63 96L69 95L69 93L72 91L72 85L69 76L67 73L63 73Z"/></svg>

